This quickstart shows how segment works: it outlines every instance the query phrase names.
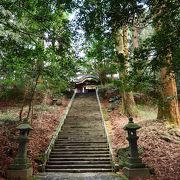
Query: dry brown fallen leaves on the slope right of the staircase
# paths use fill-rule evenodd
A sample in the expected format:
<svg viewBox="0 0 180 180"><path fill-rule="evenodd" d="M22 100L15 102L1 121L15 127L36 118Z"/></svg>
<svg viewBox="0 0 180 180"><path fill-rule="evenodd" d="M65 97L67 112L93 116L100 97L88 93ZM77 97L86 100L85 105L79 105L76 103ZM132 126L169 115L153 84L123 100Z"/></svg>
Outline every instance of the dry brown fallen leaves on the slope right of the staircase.
<svg viewBox="0 0 180 180"><path fill-rule="evenodd" d="M104 109L107 110L107 101L102 101ZM127 117L121 115L118 110L108 112L108 118L111 123L112 148L114 154L118 148L128 145L126 140L127 134L123 127L127 124ZM142 128L138 131L138 144L143 147L143 162L151 168L154 168L155 175L145 178L146 180L179 180L180 179L180 144L166 141L164 135L171 136L171 139L177 139L169 133L163 123L157 121L141 121L135 118ZM179 139L180 141L180 139ZM140 180L143 178L137 178Z"/></svg>

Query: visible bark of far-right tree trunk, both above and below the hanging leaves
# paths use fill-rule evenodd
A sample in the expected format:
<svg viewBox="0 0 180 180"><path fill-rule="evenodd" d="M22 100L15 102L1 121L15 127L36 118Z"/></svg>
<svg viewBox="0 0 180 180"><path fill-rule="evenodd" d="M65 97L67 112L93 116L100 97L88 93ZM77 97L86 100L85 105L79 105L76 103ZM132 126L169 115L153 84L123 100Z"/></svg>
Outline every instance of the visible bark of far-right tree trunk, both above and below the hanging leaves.
<svg viewBox="0 0 180 180"><path fill-rule="evenodd" d="M156 32L162 31L164 21L161 20L164 14L164 9L166 7L165 3L159 6L158 1L153 1L153 12L154 12L154 24ZM159 60L162 61L164 66L160 69L160 81L161 87L159 88L159 103L158 103L158 115L157 119L165 119L169 123L176 124L180 126L180 113L177 99L177 87L175 74L172 69L172 51L169 44L165 44L165 49L167 49L165 54L161 54L159 51ZM168 48L167 48L168 47Z"/></svg>

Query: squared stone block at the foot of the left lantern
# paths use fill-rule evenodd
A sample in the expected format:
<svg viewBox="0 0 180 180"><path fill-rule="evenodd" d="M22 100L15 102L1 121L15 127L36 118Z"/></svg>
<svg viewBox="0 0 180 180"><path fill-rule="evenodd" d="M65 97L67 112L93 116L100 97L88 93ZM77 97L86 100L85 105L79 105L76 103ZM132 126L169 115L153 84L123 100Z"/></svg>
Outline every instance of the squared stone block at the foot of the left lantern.
<svg viewBox="0 0 180 180"><path fill-rule="evenodd" d="M28 180L33 174L32 167L29 167L28 169L21 169L21 170L13 170L9 169L7 170L7 178L10 180Z"/></svg>

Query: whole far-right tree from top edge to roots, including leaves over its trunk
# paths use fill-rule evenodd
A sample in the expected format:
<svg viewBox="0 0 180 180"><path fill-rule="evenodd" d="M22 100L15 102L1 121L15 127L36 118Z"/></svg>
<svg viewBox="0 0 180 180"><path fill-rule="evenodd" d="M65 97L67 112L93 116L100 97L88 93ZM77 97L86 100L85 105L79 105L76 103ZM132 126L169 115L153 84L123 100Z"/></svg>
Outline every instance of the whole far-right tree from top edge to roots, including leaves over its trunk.
<svg viewBox="0 0 180 180"><path fill-rule="evenodd" d="M177 21L179 21L179 5L179 1L152 1L157 59L162 63L160 66L160 99L157 118L178 125L180 125L180 115L173 65L173 49L177 45L172 40L178 36L176 28ZM171 26L168 25L169 23Z"/></svg>

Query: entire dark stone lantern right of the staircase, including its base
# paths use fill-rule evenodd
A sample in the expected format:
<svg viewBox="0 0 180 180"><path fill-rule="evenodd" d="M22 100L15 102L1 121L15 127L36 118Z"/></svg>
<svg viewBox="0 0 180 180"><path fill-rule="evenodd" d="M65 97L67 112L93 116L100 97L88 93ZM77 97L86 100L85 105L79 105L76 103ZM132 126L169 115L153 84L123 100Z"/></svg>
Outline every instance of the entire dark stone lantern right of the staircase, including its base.
<svg viewBox="0 0 180 180"><path fill-rule="evenodd" d="M150 175L149 169L142 163L138 153L137 140L139 137L136 131L140 128L138 124L133 122L132 117L129 118L128 124L124 127L124 130L128 132L127 140L129 141L130 156L128 157L126 167L123 168L123 172L129 178Z"/></svg>

